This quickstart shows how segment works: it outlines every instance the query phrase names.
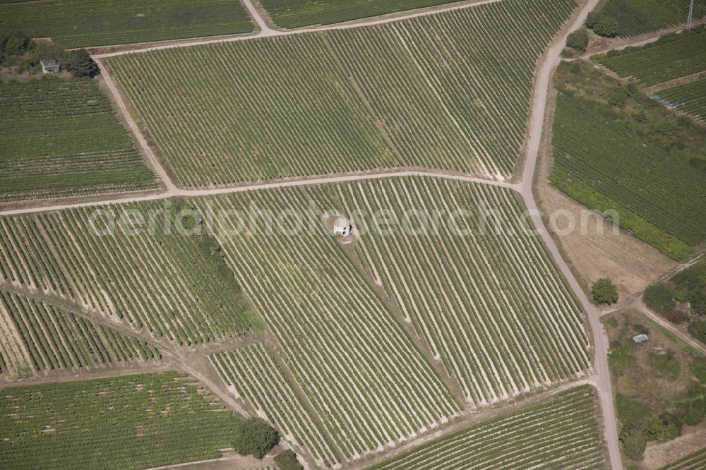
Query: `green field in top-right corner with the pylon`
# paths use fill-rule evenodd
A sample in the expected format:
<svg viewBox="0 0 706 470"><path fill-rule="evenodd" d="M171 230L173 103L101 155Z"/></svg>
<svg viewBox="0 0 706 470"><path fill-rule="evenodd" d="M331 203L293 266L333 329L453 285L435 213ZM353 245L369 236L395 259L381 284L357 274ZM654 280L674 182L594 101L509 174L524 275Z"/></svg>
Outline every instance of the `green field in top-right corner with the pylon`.
<svg viewBox="0 0 706 470"><path fill-rule="evenodd" d="M599 9L618 20L618 34L641 35L645 32L686 24L690 0L608 0ZM693 18L706 16L706 0L695 0Z"/></svg>

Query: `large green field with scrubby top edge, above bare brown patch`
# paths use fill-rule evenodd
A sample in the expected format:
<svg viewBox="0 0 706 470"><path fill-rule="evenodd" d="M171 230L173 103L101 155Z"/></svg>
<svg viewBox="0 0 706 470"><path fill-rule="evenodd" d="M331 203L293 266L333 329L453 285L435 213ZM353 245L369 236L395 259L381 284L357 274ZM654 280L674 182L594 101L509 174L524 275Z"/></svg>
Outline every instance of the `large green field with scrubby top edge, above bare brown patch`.
<svg viewBox="0 0 706 470"><path fill-rule="evenodd" d="M592 209L616 210L623 229L671 258L687 258L706 239L701 128L590 66L567 64L559 76L551 180Z"/></svg>

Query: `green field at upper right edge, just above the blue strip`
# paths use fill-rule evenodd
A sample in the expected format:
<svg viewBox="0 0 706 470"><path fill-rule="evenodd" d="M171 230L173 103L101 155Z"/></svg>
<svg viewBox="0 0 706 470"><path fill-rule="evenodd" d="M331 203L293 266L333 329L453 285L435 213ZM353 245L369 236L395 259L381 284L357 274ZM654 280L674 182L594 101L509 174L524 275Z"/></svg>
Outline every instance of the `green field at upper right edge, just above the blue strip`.
<svg viewBox="0 0 706 470"><path fill-rule="evenodd" d="M621 77L634 77L645 86L706 70L706 26L667 35L657 42L628 47L597 60Z"/></svg>

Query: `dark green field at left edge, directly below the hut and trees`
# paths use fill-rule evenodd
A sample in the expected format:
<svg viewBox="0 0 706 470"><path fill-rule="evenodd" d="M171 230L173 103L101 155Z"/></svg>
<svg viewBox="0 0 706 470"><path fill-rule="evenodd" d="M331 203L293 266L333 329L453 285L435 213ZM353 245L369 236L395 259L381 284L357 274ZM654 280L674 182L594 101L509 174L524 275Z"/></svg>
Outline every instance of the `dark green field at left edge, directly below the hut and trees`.
<svg viewBox="0 0 706 470"><path fill-rule="evenodd" d="M155 188L92 80L0 84L0 202Z"/></svg>

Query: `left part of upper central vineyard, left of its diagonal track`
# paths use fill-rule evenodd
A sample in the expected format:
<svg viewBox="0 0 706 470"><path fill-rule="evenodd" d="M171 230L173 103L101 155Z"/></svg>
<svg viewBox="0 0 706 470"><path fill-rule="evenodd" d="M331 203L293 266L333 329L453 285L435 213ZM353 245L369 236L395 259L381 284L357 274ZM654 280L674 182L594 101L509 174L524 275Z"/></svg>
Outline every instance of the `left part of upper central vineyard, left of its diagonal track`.
<svg viewBox="0 0 706 470"><path fill-rule="evenodd" d="M107 64L185 186L400 164L319 35Z"/></svg>

